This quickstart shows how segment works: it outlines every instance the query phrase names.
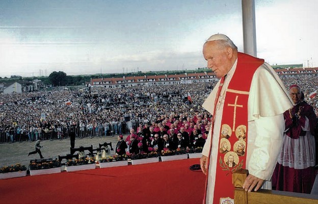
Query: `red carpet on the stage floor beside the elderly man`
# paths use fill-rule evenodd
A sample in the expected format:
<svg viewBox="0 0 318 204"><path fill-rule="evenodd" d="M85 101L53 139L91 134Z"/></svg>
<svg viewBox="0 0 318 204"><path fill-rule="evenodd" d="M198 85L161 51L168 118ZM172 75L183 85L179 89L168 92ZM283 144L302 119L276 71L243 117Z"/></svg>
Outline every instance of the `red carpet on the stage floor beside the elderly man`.
<svg viewBox="0 0 318 204"><path fill-rule="evenodd" d="M0 180L0 203L202 203L199 159Z"/></svg>

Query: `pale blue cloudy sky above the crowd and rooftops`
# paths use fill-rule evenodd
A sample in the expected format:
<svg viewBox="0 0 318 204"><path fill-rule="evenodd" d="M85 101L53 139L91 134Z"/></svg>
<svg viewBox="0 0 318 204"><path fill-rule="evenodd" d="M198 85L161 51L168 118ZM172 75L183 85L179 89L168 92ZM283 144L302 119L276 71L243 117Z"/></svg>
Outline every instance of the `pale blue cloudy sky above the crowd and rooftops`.
<svg viewBox="0 0 318 204"><path fill-rule="evenodd" d="M318 1L255 0L257 57L318 66ZM240 0L1 0L0 77L191 70L223 33L243 52Z"/></svg>

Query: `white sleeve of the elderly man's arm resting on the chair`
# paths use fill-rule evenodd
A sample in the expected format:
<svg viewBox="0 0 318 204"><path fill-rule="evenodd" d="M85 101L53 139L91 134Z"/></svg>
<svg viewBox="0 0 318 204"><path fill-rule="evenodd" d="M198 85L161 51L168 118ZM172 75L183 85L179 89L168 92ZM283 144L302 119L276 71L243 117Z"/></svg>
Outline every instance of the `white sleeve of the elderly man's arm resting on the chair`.
<svg viewBox="0 0 318 204"><path fill-rule="evenodd" d="M283 114L259 117L249 123L249 128L255 131L255 138L248 136L249 173L262 180L270 180L283 142Z"/></svg>

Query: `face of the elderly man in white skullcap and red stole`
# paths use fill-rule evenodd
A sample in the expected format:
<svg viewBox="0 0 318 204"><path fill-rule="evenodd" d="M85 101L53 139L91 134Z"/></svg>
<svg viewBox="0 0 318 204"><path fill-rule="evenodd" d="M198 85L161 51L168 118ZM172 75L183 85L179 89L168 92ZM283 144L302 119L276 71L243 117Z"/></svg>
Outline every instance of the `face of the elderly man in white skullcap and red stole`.
<svg viewBox="0 0 318 204"><path fill-rule="evenodd" d="M207 68L212 69L217 78L224 77L232 68L232 49L230 47L223 48L218 42L209 41L203 45L203 57L207 61Z"/></svg>

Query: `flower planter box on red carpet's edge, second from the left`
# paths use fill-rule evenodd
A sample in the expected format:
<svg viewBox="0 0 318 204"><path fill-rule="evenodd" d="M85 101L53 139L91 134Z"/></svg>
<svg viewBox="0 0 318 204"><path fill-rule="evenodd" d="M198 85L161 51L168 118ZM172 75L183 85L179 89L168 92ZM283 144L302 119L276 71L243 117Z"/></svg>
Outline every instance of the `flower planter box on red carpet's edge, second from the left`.
<svg viewBox="0 0 318 204"><path fill-rule="evenodd" d="M60 172L61 162L58 159L31 160L30 162L30 175L42 175Z"/></svg>

